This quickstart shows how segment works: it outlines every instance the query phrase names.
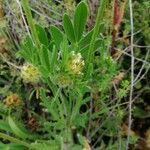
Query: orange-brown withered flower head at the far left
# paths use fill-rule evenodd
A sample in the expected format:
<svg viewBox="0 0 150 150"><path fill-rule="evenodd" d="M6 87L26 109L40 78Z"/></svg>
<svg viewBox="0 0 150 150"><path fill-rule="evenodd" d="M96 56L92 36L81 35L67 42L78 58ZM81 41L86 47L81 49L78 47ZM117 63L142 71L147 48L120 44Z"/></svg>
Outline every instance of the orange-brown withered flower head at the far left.
<svg viewBox="0 0 150 150"><path fill-rule="evenodd" d="M16 106L21 105L21 99L19 95L14 93L14 94L7 96L6 99L4 100L4 103L8 107L16 107Z"/></svg>

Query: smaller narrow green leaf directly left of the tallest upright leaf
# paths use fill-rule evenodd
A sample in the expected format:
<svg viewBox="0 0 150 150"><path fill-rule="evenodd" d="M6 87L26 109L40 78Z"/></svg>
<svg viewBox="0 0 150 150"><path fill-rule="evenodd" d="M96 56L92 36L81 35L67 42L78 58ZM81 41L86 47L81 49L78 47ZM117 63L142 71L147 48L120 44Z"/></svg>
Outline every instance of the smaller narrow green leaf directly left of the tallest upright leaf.
<svg viewBox="0 0 150 150"><path fill-rule="evenodd" d="M63 18L63 27L64 27L65 33L67 34L69 41L71 43L75 43L76 40L75 40L73 24L67 14L65 14Z"/></svg>

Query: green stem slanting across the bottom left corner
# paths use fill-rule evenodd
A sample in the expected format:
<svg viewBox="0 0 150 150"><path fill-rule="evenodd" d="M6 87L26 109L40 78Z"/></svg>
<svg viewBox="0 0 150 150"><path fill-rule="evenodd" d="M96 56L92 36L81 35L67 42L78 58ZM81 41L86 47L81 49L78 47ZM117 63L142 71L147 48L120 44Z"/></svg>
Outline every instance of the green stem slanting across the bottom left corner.
<svg viewBox="0 0 150 150"><path fill-rule="evenodd" d="M28 147L28 148L31 148L30 144L23 142L21 140L18 140L12 136L7 135L7 134L1 133L1 132L0 132L0 138L8 140L8 141L13 142L13 143L17 143L19 145L23 145L23 146Z"/></svg>

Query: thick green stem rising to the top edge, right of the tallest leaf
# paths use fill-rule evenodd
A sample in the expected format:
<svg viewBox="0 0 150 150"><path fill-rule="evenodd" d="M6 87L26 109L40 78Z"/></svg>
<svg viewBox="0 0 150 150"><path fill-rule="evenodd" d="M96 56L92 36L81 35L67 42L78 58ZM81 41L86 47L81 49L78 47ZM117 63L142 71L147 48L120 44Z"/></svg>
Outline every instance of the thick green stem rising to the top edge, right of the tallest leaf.
<svg viewBox="0 0 150 150"><path fill-rule="evenodd" d="M95 45L96 38L97 38L97 36L99 35L99 32L100 32L100 24L101 24L101 21L102 21L103 16L104 16L104 11L105 11L106 4L107 4L107 0L101 0L100 1L100 6L98 8L98 14L97 14L97 17L96 17L96 23L95 23L95 26L94 26L93 35L92 35L92 39L91 39L90 46L89 46L89 49L88 49L87 65L89 65L90 63L93 62L92 52L94 50L94 45Z"/></svg>

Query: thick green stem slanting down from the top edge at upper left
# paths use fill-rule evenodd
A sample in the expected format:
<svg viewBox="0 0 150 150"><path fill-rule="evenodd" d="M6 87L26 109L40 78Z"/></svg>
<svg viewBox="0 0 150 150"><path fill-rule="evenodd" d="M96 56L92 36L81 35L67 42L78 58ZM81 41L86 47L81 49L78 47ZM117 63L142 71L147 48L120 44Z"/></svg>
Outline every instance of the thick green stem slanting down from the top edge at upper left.
<svg viewBox="0 0 150 150"><path fill-rule="evenodd" d="M22 7L24 9L24 12L25 12L25 15L26 15L26 18L27 18L27 21L28 21L28 24L29 24L29 27L31 30L33 41L34 41L36 47L39 48L40 47L40 41L39 41L38 34L36 32L36 28L35 28L35 25L34 25L34 22L32 19L29 0L22 0L21 2L22 2L21 4L22 4Z"/></svg>

